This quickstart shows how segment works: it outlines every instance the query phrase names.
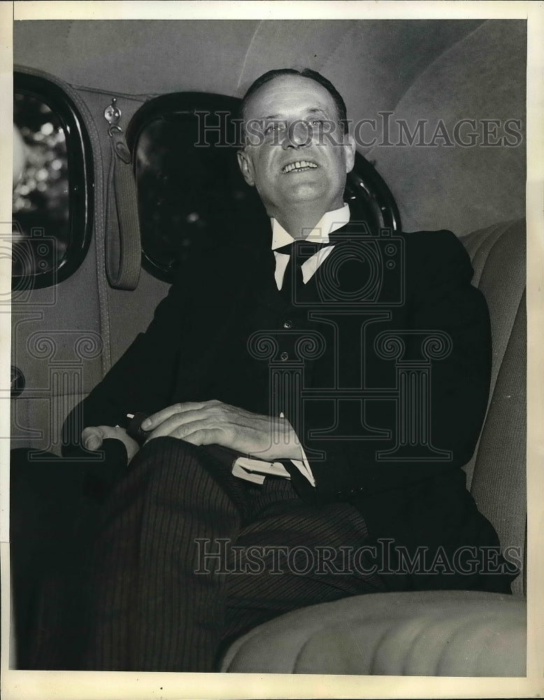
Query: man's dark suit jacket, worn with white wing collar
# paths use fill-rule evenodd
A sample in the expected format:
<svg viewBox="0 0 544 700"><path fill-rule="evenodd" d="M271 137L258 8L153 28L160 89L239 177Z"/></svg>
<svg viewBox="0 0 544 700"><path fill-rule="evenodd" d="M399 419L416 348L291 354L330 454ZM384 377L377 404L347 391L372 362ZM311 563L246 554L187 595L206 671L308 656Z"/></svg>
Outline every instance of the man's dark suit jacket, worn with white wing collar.
<svg viewBox="0 0 544 700"><path fill-rule="evenodd" d="M208 251L182 271L148 331L83 402L84 425L115 425L127 412L178 401L216 398L262 414L285 406L317 484L289 466L296 489L317 506L348 500L362 512L392 588L508 590L508 575L479 570L481 557L470 573L459 572L467 570L466 552L462 566L448 566L459 548L498 545L461 470L485 416L491 367L487 306L471 286L466 251L448 231L387 241L348 225L333 242L295 304L275 288L266 243ZM305 334L302 362L296 340ZM434 346L422 351L433 335ZM432 359L433 348L441 358ZM288 374L299 377L298 405L282 403L278 386ZM430 422L420 435L431 449L408 444L388 457L382 453L399 439L410 442L400 435L406 381L423 382L415 393L427 402ZM420 420L421 405L403 395L404 416ZM394 550L383 540L393 540ZM410 556L427 552L424 565L388 575L399 568L396 547ZM448 561L427 570L441 548Z"/></svg>

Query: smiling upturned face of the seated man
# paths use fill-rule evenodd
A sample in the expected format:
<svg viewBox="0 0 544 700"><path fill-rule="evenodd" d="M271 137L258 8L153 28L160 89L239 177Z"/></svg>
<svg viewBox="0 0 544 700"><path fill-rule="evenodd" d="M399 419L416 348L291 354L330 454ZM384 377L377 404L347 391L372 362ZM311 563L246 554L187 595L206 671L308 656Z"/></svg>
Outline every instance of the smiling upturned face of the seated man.
<svg viewBox="0 0 544 700"><path fill-rule="evenodd" d="M334 99L320 83L274 78L252 94L244 123L248 137L238 162L269 216L311 202L323 211L342 207L355 144L343 135Z"/></svg>

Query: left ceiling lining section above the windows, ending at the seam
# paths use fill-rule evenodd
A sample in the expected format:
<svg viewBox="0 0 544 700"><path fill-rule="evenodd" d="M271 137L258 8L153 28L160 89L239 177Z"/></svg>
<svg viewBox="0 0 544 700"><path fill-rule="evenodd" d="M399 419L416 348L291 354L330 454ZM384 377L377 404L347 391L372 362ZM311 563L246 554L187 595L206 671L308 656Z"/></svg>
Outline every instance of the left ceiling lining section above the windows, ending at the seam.
<svg viewBox="0 0 544 700"><path fill-rule="evenodd" d="M17 63L98 90L235 94L258 24L252 20L15 22L14 55Z"/></svg>

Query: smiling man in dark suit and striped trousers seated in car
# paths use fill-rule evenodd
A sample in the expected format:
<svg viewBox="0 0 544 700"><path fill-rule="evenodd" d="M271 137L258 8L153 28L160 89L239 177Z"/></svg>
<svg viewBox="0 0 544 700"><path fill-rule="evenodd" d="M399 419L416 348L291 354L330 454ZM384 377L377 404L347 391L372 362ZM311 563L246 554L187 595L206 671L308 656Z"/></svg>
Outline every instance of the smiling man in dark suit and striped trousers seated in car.
<svg viewBox="0 0 544 700"><path fill-rule="evenodd" d="M229 640L303 605L509 590L460 469L491 364L468 255L450 232L350 221L355 144L319 74L266 73L243 120L271 245L184 271L67 423L112 465L76 668L211 671ZM141 448L114 427L136 412Z"/></svg>

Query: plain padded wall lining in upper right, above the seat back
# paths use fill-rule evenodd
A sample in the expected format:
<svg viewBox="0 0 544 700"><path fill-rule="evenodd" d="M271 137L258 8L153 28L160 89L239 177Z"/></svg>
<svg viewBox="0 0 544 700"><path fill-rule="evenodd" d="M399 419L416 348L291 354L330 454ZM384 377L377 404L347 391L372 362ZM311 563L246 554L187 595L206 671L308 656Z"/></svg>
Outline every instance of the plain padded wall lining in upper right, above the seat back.
<svg viewBox="0 0 544 700"><path fill-rule="evenodd" d="M421 73L394 118L406 119L412 129L426 119L431 135L441 119L450 134L462 119L479 125L516 119L523 127L526 30L524 20L480 25ZM468 131L461 132L465 142ZM501 127L497 135L503 135ZM517 147L375 146L366 157L391 188L405 230L449 228L463 236L525 215L524 138Z"/></svg>

